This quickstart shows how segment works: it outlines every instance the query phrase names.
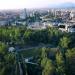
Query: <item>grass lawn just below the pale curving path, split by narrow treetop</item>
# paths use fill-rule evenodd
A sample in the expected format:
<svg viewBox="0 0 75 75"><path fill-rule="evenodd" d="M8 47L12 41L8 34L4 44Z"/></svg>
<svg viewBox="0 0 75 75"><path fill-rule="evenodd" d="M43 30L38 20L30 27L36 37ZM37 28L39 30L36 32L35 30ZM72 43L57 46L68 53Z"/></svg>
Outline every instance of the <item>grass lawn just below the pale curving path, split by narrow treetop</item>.
<svg viewBox="0 0 75 75"><path fill-rule="evenodd" d="M51 53L56 53L57 51L57 48L46 48L49 52ZM24 58L28 58L28 57L32 57L32 56L37 56L39 55L41 52L41 48L39 49L29 49L29 50L23 50L23 51L20 51L19 53L21 55L23 55Z"/></svg>

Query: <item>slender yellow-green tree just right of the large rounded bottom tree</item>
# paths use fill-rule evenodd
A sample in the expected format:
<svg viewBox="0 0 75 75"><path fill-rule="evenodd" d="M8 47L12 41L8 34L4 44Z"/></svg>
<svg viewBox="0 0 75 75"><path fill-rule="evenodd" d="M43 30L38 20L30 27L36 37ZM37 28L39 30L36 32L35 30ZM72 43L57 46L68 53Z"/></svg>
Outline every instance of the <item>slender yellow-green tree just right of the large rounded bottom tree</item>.
<svg viewBox="0 0 75 75"><path fill-rule="evenodd" d="M65 65L64 65L64 58L61 52L56 54L56 72L57 75L65 75Z"/></svg>

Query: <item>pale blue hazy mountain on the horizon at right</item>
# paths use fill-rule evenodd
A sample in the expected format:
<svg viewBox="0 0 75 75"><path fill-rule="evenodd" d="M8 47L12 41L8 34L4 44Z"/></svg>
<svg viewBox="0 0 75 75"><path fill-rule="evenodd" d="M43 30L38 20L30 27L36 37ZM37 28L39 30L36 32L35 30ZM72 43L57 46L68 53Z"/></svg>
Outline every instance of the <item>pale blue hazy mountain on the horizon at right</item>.
<svg viewBox="0 0 75 75"><path fill-rule="evenodd" d="M75 3L67 2L57 5L52 5L51 8L75 8Z"/></svg>

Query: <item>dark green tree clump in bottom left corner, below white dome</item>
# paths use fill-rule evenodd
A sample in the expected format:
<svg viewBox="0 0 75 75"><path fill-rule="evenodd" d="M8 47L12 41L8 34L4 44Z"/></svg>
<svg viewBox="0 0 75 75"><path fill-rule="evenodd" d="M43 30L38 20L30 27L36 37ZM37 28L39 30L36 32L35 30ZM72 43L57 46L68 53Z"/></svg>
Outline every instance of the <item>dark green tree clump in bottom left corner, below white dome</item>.
<svg viewBox="0 0 75 75"><path fill-rule="evenodd" d="M0 42L0 75L10 75L14 61L14 55L8 52L8 46Z"/></svg>

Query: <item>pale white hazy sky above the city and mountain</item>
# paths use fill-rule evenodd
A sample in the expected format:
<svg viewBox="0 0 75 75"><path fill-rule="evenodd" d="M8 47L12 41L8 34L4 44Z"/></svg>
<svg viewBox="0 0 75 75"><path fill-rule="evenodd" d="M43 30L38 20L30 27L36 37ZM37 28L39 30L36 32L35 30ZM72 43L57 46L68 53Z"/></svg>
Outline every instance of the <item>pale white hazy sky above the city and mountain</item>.
<svg viewBox="0 0 75 75"><path fill-rule="evenodd" d="M41 8L75 0L0 0L0 9Z"/></svg>

